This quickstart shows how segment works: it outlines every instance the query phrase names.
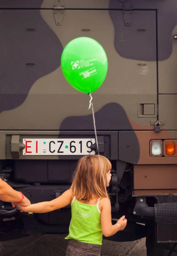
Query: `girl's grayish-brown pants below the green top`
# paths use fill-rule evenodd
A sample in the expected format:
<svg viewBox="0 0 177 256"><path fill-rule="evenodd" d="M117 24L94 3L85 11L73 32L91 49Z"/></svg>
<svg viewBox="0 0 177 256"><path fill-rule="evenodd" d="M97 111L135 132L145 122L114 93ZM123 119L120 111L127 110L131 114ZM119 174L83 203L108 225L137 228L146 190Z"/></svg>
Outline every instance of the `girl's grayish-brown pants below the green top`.
<svg viewBox="0 0 177 256"><path fill-rule="evenodd" d="M66 256L103 256L101 245L87 244L73 239L69 239Z"/></svg>

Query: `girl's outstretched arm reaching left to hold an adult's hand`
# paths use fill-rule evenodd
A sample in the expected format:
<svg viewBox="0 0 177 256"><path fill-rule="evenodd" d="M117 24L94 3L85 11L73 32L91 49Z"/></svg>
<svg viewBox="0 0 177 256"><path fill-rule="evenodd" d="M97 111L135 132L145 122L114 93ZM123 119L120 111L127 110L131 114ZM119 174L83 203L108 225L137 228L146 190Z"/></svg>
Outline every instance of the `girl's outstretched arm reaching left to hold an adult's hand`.
<svg viewBox="0 0 177 256"><path fill-rule="evenodd" d="M20 209L22 212L34 212L34 213L44 213L44 212L52 212L56 209L63 208L71 203L72 199L72 190L68 189L66 190L62 195L60 195L58 198L41 202L37 204L31 204L27 207L22 207L20 205L17 205L17 208Z"/></svg>

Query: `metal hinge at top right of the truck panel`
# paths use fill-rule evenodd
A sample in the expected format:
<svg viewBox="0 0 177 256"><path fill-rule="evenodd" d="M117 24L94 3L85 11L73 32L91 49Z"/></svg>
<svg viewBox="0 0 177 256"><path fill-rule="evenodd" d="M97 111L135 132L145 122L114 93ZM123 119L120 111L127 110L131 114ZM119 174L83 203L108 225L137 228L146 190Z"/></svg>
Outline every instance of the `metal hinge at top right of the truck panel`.
<svg viewBox="0 0 177 256"><path fill-rule="evenodd" d="M133 19L133 4L131 0L120 0L123 3L123 20L126 26L131 26Z"/></svg>

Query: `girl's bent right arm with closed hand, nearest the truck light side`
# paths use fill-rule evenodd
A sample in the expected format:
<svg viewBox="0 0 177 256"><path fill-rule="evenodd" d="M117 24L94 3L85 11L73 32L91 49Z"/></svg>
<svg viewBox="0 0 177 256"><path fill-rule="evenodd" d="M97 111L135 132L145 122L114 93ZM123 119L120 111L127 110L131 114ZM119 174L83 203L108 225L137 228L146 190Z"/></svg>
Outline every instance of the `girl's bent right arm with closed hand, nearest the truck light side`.
<svg viewBox="0 0 177 256"><path fill-rule="evenodd" d="M113 236L119 230L125 229L127 224L127 219L125 216L122 216L116 224L112 225L111 203L108 198L101 199L99 207L101 211L101 229L104 236Z"/></svg>

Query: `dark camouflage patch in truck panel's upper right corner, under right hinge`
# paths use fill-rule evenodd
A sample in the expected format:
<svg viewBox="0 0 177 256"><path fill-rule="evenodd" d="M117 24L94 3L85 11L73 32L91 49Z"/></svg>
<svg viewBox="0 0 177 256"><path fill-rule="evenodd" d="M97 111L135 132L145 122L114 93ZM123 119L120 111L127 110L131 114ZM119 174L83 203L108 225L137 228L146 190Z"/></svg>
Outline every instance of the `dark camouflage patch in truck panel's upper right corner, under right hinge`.
<svg viewBox="0 0 177 256"><path fill-rule="evenodd" d="M110 10L109 14L114 24L117 53L127 59L156 61L155 11L133 11L131 26L125 26L122 12L117 15L117 11Z"/></svg>

